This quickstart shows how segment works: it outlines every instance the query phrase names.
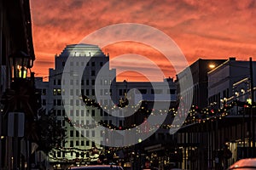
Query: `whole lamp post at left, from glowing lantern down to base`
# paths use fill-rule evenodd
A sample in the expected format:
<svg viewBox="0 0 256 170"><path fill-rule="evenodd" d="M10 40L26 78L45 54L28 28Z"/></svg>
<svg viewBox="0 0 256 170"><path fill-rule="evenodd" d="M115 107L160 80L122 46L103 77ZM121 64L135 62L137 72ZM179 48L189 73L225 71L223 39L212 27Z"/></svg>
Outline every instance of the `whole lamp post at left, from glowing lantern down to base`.
<svg viewBox="0 0 256 170"><path fill-rule="evenodd" d="M17 51L15 54L9 55L9 65L11 68L11 74L13 78L13 82L11 82L11 89L14 92L14 101L8 99L6 105L9 105L6 108L6 112L9 114L8 122L14 122L8 124L8 136L12 137L14 142L14 164L13 169L23 169L24 167L20 167L20 138L24 135L24 123L26 122L27 116L23 118L23 121L20 120L20 117L24 117L24 112L26 111L26 105L22 105L24 101L22 101L22 95L26 95L24 89L27 87L26 75L27 69L32 67L32 59L29 55L24 53L23 51ZM12 113L12 114L10 114ZM15 115L15 116L10 116ZM22 115L22 116L20 116ZM25 114L26 115L26 114ZM10 117L15 117L14 120L11 120ZM24 120L25 119L25 120ZM31 117L29 118L31 119ZM19 132L20 127L17 124L21 124L23 127L23 132ZM11 133L13 131L13 133Z"/></svg>

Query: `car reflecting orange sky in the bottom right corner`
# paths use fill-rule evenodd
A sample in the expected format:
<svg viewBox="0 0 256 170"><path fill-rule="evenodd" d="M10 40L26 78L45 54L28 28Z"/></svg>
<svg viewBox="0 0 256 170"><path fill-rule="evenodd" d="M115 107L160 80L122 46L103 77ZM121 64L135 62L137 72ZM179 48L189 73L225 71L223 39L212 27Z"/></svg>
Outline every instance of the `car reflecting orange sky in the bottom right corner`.
<svg viewBox="0 0 256 170"><path fill-rule="evenodd" d="M256 169L256 158L246 158L236 161L233 165L231 165L228 170L236 169L236 170L249 170Z"/></svg>

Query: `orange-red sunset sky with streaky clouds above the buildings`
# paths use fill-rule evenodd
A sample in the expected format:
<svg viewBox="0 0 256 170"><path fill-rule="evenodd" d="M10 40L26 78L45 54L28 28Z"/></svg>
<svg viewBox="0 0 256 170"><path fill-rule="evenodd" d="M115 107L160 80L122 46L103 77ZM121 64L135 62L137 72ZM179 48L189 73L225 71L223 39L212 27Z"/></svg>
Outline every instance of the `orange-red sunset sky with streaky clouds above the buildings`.
<svg viewBox="0 0 256 170"><path fill-rule="evenodd" d="M256 59L255 0L31 0L31 14L36 54L32 71L37 77L49 75L55 54L61 54L67 44L79 43L91 32L119 23L163 31L177 43L189 64L199 58ZM140 54L159 65L166 77L177 74L159 51L143 43L119 42L102 50L110 59ZM111 67L119 69L128 64ZM130 64L140 66L143 61ZM139 76L122 74L118 80L145 80Z"/></svg>

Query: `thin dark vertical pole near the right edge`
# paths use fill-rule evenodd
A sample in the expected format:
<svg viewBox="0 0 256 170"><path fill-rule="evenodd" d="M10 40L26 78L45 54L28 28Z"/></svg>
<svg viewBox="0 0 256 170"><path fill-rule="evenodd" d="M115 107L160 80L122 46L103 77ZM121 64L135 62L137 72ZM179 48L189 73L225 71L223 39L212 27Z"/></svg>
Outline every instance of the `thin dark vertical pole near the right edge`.
<svg viewBox="0 0 256 170"><path fill-rule="evenodd" d="M253 105L254 105L254 90L253 90L253 60L252 57L250 57L250 79L251 79L251 97L252 97L252 105L251 105L251 138L253 142L253 148L252 148L252 156L254 157L255 154L255 126L254 126L254 114L253 114Z"/></svg>

